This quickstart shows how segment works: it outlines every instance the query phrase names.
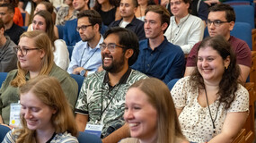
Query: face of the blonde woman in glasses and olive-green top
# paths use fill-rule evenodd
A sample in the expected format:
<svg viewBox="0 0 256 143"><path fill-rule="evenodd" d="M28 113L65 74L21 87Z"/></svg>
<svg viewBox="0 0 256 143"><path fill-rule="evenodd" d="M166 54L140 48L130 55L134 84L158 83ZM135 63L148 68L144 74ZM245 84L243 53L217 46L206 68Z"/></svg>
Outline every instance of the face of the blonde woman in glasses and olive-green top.
<svg viewBox="0 0 256 143"><path fill-rule="evenodd" d="M34 44L34 39L27 37L22 37L20 39L19 46L26 49L36 48ZM28 71L40 71L42 59L45 56L45 52L42 49L29 50L27 52L27 55L22 55L21 52L18 52L17 56L22 69Z"/></svg>

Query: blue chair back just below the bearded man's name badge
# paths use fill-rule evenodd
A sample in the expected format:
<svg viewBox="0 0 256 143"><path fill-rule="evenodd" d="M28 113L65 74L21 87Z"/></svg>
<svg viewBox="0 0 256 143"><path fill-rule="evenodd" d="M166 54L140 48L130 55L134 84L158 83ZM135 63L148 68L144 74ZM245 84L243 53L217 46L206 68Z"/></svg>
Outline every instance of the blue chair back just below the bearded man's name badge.
<svg viewBox="0 0 256 143"><path fill-rule="evenodd" d="M78 142L81 143L102 143L102 139L100 139L99 137L82 131L79 131L79 136L77 137L77 139Z"/></svg>

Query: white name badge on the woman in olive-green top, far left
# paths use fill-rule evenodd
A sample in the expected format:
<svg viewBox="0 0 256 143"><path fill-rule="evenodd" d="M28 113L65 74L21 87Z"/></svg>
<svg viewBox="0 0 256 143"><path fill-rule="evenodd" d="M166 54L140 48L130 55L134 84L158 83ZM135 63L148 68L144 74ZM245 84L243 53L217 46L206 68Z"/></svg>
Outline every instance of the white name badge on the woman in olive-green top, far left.
<svg viewBox="0 0 256 143"><path fill-rule="evenodd" d="M20 125L20 122L21 122L21 119L20 119L21 108L22 108L22 105L20 105L18 103L11 104L10 122L9 122L10 125L13 125L13 126Z"/></svg>

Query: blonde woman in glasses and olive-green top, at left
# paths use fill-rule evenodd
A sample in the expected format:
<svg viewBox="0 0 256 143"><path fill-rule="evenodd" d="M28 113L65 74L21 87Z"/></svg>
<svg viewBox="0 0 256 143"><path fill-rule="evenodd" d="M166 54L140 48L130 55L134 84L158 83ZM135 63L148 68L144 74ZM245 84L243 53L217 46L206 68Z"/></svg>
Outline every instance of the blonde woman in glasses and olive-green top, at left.
<svg viewBox="0 0 256 143"><path fill-rule="evenodd" d="M77 83L53 62L51 41L45 32L36 30L23 33L15 52L18 57L18 69L8 73L0 88L0 123L9 123L10 105L20 100L18 88L38 75L56 77L69 104L74 108L78 92Z"/></svg>

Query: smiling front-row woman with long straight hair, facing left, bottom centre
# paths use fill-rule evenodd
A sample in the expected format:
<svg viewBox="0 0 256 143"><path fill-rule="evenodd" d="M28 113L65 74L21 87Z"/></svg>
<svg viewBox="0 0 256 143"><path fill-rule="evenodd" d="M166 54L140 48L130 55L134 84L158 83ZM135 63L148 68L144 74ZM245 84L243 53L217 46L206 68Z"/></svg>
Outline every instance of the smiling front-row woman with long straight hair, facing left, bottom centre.
<svg viewBox="0 0 256 143"><path fill-rule="evenodd" d="M120 143L189 143L182 135L170 90L161 80L139 80L128 88L124 119L132 138Z"/></svg>

